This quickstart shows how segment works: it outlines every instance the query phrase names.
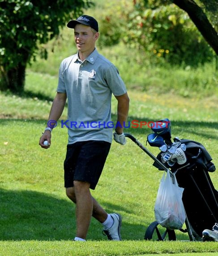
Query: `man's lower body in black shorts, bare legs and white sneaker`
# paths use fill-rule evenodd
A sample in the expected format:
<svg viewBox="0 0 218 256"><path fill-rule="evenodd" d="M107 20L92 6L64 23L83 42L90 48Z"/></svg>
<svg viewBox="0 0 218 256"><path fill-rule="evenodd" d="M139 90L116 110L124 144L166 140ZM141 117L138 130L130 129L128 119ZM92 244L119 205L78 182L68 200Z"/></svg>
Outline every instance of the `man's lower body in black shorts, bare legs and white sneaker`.
<svg viewBox="0 0 218 256"><path fill-rule="evenodd" d="M93 216L103 224L104 233L109 240L121 240L121 216L107 214L90 194L90 189L94 190L98 183L110 146L106 141L85 141L68 145L64 161L64 186L68 198L78 204L76 215L79 238L84 239L86 236Z"/></svg>

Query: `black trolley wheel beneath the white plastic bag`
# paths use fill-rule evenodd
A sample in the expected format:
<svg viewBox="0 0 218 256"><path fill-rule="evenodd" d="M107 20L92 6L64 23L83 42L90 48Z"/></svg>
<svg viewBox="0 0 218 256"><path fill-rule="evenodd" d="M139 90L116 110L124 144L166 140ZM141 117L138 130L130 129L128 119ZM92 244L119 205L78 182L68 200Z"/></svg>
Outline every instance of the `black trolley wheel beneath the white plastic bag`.
<svg viewBox="0 0 218 256"><path fill-rule="evenodd" d="M154 240L154 241L165 241L165 240L176 240L175 231L168 230L163 228L158 224L158 221L152 222L146 232L145 232L145 240Z"/></svg>

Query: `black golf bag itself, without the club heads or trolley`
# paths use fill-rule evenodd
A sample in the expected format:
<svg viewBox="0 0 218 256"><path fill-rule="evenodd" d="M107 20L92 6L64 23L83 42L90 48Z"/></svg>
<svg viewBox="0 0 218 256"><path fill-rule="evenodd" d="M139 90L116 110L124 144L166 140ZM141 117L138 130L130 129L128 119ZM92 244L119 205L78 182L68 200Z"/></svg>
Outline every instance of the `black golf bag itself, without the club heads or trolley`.
<svg viewBox="0 0 218 256"><path fill-rule="evenodd" d="M201 237L203 230L211 229L218 222L218 191L209 176L209 172L215 171L215 166L210 154L199 142L182 139L180 143L186 146L186 162L173 166L165 162L164 165L171 168L178 185L184 188L182 200L192 233ZM157 159L161 159L161 154ZM163 170L158 163L153 165Z"/></svg>

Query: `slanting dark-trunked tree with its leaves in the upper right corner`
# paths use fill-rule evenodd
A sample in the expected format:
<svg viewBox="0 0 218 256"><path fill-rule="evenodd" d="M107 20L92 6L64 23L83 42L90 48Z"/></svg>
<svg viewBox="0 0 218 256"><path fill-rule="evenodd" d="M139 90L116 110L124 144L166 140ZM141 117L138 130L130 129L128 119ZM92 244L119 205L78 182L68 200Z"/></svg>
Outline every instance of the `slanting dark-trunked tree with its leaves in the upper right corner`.
<svg viewBox="0 0 218 256"><path fill-rule="evenodd" d="M214 52L218 55L218 33L214 26L209 22L207 15L203 8L201 8L193 0L171 0L178 7L186 11L195 24L197 29L201 32L201 35L205 38L208 44L214 49ZM199 0L205 9L210 13L216 13L216 22L218 22L218 2L217 0ZM215 19L213 19L215 21ZM217 24L216 24L217 25Z"/></svg>

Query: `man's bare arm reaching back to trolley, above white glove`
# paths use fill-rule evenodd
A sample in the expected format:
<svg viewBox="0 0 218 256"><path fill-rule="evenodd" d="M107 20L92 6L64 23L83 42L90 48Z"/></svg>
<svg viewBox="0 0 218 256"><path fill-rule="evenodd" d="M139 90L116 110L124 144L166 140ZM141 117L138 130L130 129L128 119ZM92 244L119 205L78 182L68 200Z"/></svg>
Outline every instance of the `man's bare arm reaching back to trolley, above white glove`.
<svg viewBox="0 0 218 256"><path fill-rule="evenodd" d="M115 132L122 134L124 131L124 124L127 121L129 109L129 97L127 93L120 96L115 96L117 99L117 122Z"/></svg>

